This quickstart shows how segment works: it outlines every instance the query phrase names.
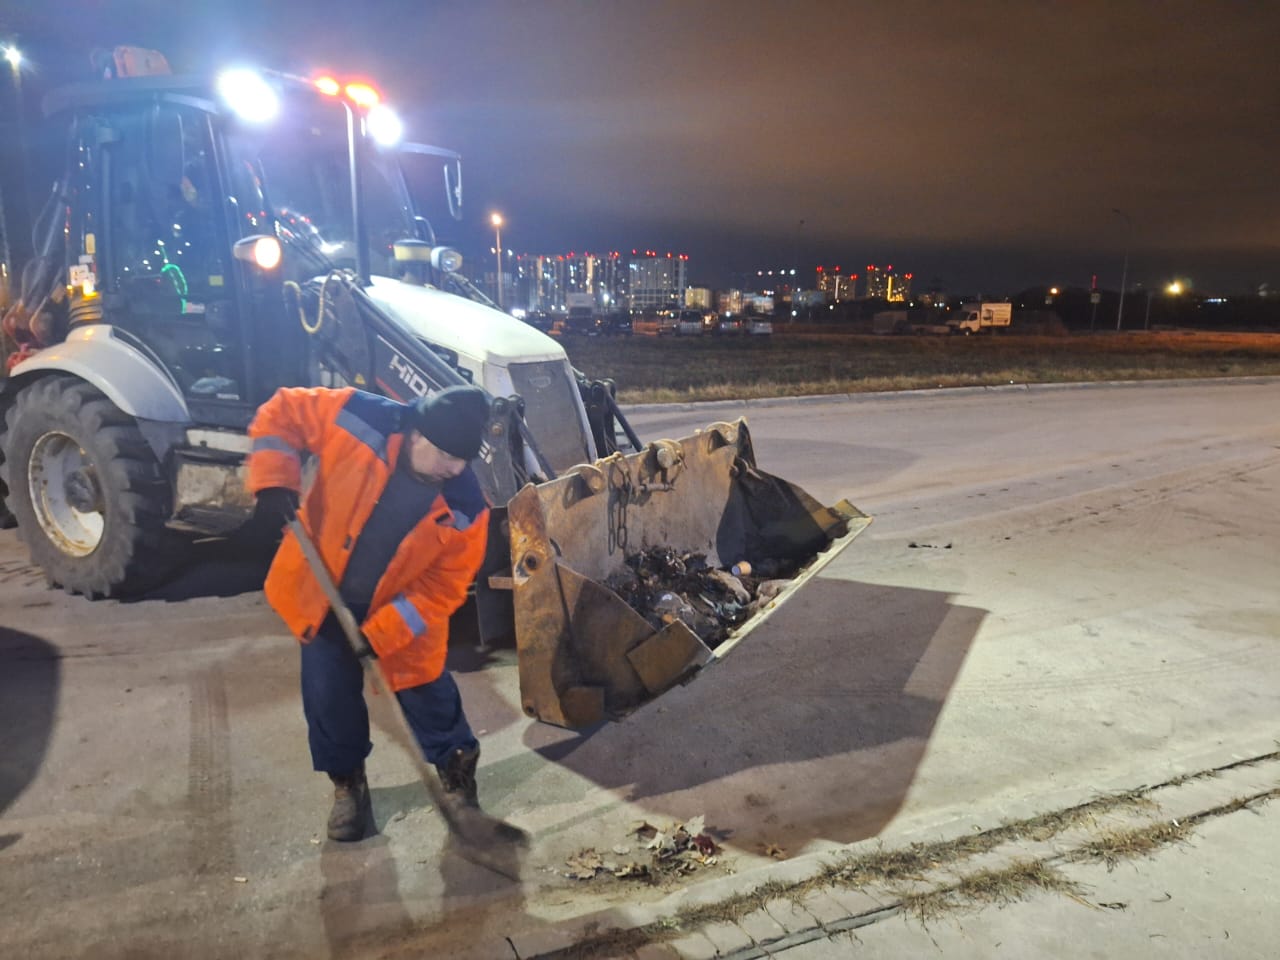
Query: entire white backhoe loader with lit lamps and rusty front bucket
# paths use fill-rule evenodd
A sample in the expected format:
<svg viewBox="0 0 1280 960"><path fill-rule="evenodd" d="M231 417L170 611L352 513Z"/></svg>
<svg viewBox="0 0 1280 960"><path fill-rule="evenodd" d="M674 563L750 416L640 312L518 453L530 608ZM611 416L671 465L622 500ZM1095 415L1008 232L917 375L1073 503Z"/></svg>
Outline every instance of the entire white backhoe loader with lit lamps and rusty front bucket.
<svg viewBox="0 0 1280 960"><path fill-rule="evenodd" d="M134 47L97 67L0 140L0 494L52 585L145 593L180 531L251 522L246 428L279 387L474 383L480 637L515 637L526 713L580 727L722 657L869 522L758 470L745 421L641 443L611 381L462 276L433 225L461 219L461 157L401 140L367 84L174 76ZM655 548L785 582L709 632L657 609Z"/></svg>

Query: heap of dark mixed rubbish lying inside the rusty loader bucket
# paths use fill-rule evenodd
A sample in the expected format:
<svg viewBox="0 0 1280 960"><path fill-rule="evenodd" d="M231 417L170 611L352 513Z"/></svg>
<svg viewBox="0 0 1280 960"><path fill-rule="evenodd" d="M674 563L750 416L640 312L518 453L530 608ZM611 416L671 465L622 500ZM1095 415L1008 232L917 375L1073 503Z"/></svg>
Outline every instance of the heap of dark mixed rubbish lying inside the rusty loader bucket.
<svg viewBox="0 0 1280 960"><path fill-rule="evenodd" d="M703 553L678 553L669 547L640 550L626 563L626 570L605 581L611 590L654 630L680 620L713 649L796 573L790 561L764 558L736 562L733 567L742 573L735 576L709 566Z"/></svg>

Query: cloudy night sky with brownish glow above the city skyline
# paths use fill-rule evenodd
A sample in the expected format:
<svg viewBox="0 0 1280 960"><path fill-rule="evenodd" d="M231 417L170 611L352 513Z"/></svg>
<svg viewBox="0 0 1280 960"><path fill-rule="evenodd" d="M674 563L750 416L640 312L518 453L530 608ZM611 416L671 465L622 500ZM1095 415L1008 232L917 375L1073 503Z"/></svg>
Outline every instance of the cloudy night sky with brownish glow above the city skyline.
<svg viewBox="0 0 1280 960"><path fill-rule="evenodd" d="M1277 4L4 0L0 36L54 35L369 76L462 151L472 256L500 210L517 251L709 285L1115 289L1128 247L1130 283L1280 287Z"/></svg>

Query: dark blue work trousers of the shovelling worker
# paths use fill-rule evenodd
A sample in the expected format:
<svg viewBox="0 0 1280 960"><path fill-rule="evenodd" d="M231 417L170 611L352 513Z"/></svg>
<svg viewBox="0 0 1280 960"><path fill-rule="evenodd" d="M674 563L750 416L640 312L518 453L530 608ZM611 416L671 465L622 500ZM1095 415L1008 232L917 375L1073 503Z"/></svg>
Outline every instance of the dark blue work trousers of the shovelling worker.
<svg viewBox="0 0 1280 960"><path fill-rule="evenodd" d="M330 613L315 639L302 644L302 712L315 769L351 773L374 749L364 680L360 658ZM430 684L401 690L396 699L429 763L440 765L453 750L477 746L448 671Z"/></svg>

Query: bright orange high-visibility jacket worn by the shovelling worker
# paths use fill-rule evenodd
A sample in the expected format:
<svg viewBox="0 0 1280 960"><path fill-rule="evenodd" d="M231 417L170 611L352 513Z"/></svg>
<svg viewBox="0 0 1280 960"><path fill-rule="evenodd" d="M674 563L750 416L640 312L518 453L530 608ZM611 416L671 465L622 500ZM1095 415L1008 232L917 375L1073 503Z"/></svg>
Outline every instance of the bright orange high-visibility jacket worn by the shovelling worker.
<svg viewBox="0 0 1280 960"><path fill-rule="evenodd" d="M407 410L351 387L291 387L276 390L250 424L251 493L268 486L301 490L302 453L315 454L315 480L298 516L335 584L396 468ZM393 690L429 684L444 669L449 614L466 600L484 559L488 522L488 503L467 467L444 483L378 581L361 628ZM302 643L311 640L329 600L292 532L285 532L264 589L289 630Z"/></svg>

